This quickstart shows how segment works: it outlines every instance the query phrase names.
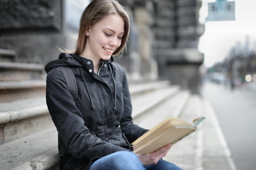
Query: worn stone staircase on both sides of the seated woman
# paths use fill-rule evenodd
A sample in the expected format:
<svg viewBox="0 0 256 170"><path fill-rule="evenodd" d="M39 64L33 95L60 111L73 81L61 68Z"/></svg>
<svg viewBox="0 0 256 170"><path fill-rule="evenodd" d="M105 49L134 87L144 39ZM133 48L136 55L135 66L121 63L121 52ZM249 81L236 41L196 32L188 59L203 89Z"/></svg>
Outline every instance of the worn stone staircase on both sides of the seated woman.
<svg viewBox="0 0 256 170"><path fill-rule="evenodd" d="M45 102L45 80L40 71L43 66L13 63L11 60L2 62L1 58L0 61L0 169L59 169L58 132ZM8 77L9 73L17 70L17 74L23 76ZM208 116L209 110L212 110L199 96L181 91L179 86L173 86L169 81L130 84L129 90L134 123L147 129L170 115L191 122L199 115ZM214 149L207 148L212 143L208 132L212 132L210 135L216 142L214 146L222 150L228 149L220 144L211 118L207 121L202 123L198 132L175 144L164 159L183 169L210 170L207 163L214 158L222 163L214 167L228 169L230 166L223 165L223 158L230 160L230 155L218 152L221 155L221 159L218 159ZM208 135L204 135L203 126ZM203 152L203 149L206 151Z"/></svg>

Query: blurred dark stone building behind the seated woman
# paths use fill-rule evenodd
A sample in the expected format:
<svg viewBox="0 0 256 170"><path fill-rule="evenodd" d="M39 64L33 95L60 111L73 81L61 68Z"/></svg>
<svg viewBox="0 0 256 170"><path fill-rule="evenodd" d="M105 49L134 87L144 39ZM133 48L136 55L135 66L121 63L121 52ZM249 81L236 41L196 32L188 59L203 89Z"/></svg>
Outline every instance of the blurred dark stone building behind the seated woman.
<svg viewBox="0 0 256 170"><path fill-rule="evenodd" d="M199 92L197 50L204 26L199 0L121 0L133 12L128 51L117 62L131 80L169 79ZM0 0L0 48L16 51L14 62L46 64L57 47L74 50L84 0Z"/></svg>

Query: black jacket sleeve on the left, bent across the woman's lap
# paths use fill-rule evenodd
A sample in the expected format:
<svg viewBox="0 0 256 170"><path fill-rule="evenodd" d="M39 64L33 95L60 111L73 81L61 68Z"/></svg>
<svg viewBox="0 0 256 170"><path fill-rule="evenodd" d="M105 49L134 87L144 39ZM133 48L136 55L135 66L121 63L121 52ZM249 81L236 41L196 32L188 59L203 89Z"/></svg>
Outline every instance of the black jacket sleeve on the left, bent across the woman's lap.
<svg viewBox="0 0 256 170"><path fill-rule="evenodd" d="M56 69L51 70L46 78L46 104L68 153L75 158L92 159L129 150L101 141L89 133L81 112L68 92L65 78Z"/></svg>

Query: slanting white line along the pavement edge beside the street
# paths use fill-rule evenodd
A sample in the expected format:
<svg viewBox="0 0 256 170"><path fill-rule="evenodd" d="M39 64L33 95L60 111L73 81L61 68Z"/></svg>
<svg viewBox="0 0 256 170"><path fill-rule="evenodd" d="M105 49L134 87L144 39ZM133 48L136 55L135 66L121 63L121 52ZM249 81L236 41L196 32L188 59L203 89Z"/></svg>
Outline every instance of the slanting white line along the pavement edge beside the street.
<svg viewBox="0 0 256 170"><path fill-rule="evenodd" d="M230 170L237 170L235 163L231 157L231 152L230 149L228 147L227 141L223 135L223 132L221 130L218 118L213 110L213 106L211 105L210 101L204 101L204 104L208 107L208 111L209 111L209 115L211 116L214 128L219 136L220 142L222 144L222 146L224 147L224 153L227 156L227 161L230 167Z"/></svg>

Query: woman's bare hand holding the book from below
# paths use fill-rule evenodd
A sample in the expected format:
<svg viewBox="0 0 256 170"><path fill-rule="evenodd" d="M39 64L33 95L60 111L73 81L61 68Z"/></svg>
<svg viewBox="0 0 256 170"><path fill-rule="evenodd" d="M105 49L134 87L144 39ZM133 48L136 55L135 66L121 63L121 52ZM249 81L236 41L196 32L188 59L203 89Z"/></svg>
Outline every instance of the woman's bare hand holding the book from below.
<svg viewBox="0 0 256 170"><path fill-rule="evenodd" d="M167 152L171 149L172 144L168 144L152 153L147 154L136 154L143 165L157 164L157 162L164 157Z"/></svg>

